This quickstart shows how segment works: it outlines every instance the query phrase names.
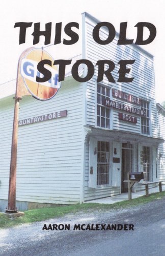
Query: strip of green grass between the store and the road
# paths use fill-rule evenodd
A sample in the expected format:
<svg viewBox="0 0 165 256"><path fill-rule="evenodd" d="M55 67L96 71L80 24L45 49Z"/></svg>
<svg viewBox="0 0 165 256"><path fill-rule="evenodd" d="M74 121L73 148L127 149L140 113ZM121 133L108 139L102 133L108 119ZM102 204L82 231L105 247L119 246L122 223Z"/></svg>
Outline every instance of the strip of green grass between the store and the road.
<svg viewBox="0 0 165 256"><path fill-rule="evenodd" d="M98 204L98 203L83 203L76 205L61 205L53 207L45 207L25 211L25 215L17 218L10 219L4 214L0 213L0 228L13 227L15 225L24 223L33 223L35 221L44 221L48 219L63 217L66 214L77 214L78 212L91 212L92 210L113 210L133 207L140 204L146 204L154 200L162 199L165 197L165 191L161 193L150 194L149 197L139 197L131 201L122 201L115 204Z"/></svg>

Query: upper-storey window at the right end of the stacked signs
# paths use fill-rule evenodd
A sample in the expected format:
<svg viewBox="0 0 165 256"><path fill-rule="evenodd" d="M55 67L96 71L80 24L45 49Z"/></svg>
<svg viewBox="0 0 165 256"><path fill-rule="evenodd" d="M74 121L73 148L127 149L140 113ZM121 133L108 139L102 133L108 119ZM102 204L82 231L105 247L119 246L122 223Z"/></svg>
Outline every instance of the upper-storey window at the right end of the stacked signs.
<svg viewBox="0 0 165 256"><path fill-rule="evenodd" d="M141 110L146 112L146 117L141 117L141 130L143 134L150 134L150 113L149 113L149 102L141 101Z"/></svg>

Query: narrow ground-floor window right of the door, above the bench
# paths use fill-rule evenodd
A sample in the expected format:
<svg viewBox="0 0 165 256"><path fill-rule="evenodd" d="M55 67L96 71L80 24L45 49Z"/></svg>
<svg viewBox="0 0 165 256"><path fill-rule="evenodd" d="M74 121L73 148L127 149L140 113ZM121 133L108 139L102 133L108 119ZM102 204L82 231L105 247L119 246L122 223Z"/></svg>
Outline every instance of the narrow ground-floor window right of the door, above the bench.
<svg viewBox="0 0 165 256"><path fill-rule="evenodd" d="M150 180L150 147L143 146L143 173L144 181Z"/></svg>

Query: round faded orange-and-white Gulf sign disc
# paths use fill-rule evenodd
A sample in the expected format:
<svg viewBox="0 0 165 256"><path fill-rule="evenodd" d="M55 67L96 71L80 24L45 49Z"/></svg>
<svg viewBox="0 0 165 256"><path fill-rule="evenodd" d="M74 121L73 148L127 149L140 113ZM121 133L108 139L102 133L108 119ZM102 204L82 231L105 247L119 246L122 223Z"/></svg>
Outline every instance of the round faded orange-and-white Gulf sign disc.
<svg viewBox="0 0 165 256"><path fill-rule="evenodd" d="M57 94L61 83L58 81L59 72L57 66L50 67L48 65L44 65L44 67L51 72L51 78L42 83L36 81L36 76L43 77L43 74L37 70L38 63L43 59L51 60L52 64L54 62L50 54L44 50L30 50L21 60L21 75L24 79L25 86L32 96L39 100L48 100Z"/></svg>

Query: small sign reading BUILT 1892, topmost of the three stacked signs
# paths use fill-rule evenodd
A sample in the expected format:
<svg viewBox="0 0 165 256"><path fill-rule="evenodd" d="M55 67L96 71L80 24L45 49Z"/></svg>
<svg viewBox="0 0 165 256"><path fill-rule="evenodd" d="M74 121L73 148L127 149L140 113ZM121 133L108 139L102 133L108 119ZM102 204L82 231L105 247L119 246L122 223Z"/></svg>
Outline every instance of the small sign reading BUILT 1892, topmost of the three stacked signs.
<svg viewBox="0 0 165 256"><path fill-rule="evenodd" d="M141 104L141 99L139 97L136 97L129 93L125 93L125 92L122 92L122 91L119 91L116 89L112 89L112 95L115 98L123 99L125 101L131 102L134 104L138 104L138 105Z"/></svg>

